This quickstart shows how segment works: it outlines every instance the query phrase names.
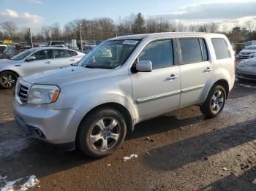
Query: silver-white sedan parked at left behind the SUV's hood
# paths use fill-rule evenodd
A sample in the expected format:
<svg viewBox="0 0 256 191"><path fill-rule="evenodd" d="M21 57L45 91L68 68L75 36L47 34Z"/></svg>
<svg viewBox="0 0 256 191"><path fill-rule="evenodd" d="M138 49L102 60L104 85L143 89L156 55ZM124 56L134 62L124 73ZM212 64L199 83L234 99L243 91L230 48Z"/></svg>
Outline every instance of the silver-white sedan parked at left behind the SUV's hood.
<svg viewBox="0 0 256 191"><path fill-rule="evenodd" d="M0 60L0 87L12 88L18 77L78 63L85 54L60 47L35 47Z"/></svg>

